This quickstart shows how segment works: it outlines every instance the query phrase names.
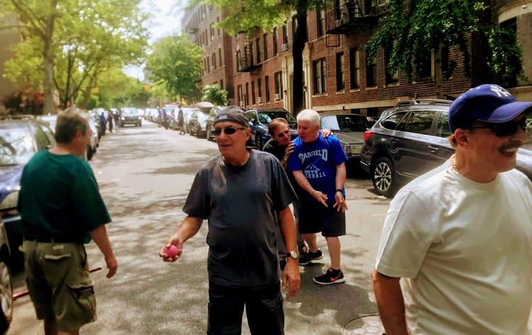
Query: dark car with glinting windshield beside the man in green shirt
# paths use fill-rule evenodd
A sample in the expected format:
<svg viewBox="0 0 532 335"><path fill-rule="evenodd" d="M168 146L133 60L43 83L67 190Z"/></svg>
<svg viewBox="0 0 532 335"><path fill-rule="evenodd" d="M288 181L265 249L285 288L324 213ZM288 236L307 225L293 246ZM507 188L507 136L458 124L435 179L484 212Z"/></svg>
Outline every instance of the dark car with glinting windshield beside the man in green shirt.
<svg viewBox="0 0 532 335"><path fill-rule="evenodd" d="M22 268L21 215L16 210L23 167L40 150L51 148L55 139L48 123L33 116L0 119L0 214L11 250L11 268Z"/></svg>

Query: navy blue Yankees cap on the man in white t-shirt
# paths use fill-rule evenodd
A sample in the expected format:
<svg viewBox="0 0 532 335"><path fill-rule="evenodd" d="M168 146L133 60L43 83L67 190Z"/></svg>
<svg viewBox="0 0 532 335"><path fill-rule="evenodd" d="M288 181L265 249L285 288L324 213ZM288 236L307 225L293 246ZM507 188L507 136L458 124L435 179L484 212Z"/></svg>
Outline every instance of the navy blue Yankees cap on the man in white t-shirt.
<svg viewBox="0 0 532 335"><path fill-rule="evenodd" d="M516 101L510 92L497 84L482 84L453 101L449 107L449 126L455 131L467 128L475 121L503 123L531 106L532 102Z"/></svg>

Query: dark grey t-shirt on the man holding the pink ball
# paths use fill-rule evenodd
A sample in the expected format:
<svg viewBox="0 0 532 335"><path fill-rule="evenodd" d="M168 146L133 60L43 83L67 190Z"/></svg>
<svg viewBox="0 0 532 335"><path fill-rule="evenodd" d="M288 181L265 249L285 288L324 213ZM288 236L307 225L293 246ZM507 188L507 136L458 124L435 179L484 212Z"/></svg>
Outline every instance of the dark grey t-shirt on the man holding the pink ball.
<svg viewBox="0 0 532 335"><path fill-rule="evenodd" d="M221 155L206 162L183 212L209 219L209 280L230 287L278 282L277 213L296 198L287 174L269 153L250 150L241 167L226 164Z"/></svg>

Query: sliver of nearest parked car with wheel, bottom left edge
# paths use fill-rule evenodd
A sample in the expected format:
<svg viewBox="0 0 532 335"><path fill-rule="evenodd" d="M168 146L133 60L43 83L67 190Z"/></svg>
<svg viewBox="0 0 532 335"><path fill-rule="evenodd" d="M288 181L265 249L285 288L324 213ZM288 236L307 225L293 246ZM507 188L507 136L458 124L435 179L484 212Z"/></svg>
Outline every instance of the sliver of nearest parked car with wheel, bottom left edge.
<svg viewBox="0 0 532 335"><path fill-rule="evenodd" d="M0 334L4 334L13 320L13 286L11 281L11 252L4 222L0 217Z"/></svg>

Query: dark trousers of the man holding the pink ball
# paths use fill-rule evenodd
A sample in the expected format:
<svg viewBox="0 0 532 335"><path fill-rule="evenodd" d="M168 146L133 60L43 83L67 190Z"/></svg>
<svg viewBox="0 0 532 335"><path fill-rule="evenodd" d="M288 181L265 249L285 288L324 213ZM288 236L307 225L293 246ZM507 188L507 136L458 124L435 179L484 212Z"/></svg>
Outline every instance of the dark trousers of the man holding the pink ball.
<svg viewBox="0 0 532 335"><path fill-rule="evenodd" d="M232 288L209 282L208 335L240 335L242 316L253 335L284 335L279 282L265 287Z"/></svg>

